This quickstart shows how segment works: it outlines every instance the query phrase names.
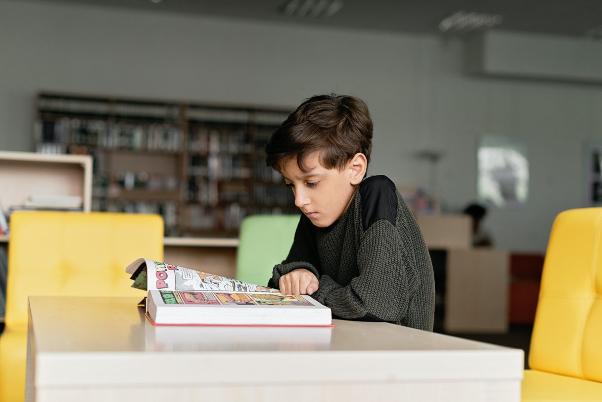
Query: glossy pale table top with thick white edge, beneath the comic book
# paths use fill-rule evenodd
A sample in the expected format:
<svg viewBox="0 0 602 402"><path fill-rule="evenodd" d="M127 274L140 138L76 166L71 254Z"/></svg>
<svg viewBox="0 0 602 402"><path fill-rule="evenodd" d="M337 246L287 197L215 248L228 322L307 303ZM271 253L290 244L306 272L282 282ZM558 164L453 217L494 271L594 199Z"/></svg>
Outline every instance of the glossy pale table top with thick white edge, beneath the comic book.
<svg viewBox="0 0 602 402"><path fill-rule="evenodd" d="M522 350L385 322L335 319L333 328L155 327L138 301L30 297L36 382L251 383L265 382L267 375L270 382L510 381L523 376ZM236 375L241 365L247 367L244 375Z"/></svg>

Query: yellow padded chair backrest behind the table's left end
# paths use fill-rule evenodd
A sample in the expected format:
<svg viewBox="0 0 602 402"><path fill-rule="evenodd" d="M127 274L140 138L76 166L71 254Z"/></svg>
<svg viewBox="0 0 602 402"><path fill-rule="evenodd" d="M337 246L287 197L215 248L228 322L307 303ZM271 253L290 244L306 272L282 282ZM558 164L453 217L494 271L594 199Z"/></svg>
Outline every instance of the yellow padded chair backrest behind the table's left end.
<svg viewBox="0 0 602 402"><path fill-rule="evenodd" d="M125 268L163 260L159 215L14 212L10 218L6 326L27 325L27 298L140 296Z"/></svg>

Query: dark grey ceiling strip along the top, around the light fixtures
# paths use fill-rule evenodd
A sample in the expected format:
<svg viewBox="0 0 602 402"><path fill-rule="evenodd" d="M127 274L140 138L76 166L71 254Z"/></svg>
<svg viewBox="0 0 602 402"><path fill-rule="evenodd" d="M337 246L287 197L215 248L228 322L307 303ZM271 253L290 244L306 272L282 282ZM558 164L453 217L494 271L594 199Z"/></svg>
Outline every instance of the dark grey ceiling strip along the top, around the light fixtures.
<svg viewBox="0 0 602 402"><path fill-rule="evenodd" d="M602 37L602 0L337 0L329 18L284 15L290 0L54 0L77 4L197 14L282 24L437 34L441 19L456 11L500 14L502 30ZM306 0L299 0L304 2ZM309 0L317 3L319 0ZM328 0L331 2L332 0Z"/></svg>

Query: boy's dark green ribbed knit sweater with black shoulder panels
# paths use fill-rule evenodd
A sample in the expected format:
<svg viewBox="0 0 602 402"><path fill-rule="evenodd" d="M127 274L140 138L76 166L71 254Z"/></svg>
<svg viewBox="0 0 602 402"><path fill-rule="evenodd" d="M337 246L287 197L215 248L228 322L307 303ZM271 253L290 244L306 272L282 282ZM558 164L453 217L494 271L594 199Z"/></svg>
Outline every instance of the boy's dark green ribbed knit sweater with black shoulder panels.
<svg viewBox="0 0 602 402"><path fill-rule="evenodd" d="M335 318L389 321L433 330L435 280L429 252L414 216L385 176L359 184L340 221L315 227L301 216L286 260L268 286L279 287L293 269L314 272L312 295Z"/></svg>

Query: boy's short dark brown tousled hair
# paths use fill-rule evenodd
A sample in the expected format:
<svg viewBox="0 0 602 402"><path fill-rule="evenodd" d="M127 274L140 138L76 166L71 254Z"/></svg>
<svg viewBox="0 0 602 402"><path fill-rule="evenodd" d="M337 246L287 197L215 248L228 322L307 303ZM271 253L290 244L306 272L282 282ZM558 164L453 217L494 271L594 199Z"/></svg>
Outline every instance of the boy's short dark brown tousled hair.
<svg viewBox="0 0 602 402"><path fill-rule="evenodd" d="M353 155L362 152L370 162L372 120L359 98L316 95L303 102L272 134L265 146L265 163L278 172L291 158L303 172L308 155L318 152L326 169L343 169Z"/></svg>

